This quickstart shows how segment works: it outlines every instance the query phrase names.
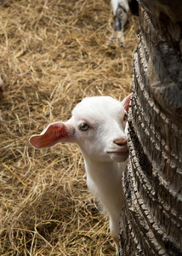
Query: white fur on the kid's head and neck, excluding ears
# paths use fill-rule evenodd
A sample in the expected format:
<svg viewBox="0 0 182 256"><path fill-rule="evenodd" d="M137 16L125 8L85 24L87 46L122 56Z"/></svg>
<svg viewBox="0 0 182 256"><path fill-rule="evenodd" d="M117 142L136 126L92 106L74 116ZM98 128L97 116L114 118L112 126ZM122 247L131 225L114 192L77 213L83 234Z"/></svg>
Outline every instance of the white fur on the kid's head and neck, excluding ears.
<svg viewBox="0 0 182 256"><path fill-rule="evenodd" d="M122 171L126 159L115 154L120 146L114 140L126 137L123 122L125 110L121 102L111 97L92 97L84 99L72 112L74 126L82 120L90 124L93 130L85 135L77 131L80 137L78 146L84 157L88 188L100 199L110 218L111 236L117 241L119 218L122 209ZM124 160L124 161L123 161Z"/></svg>

